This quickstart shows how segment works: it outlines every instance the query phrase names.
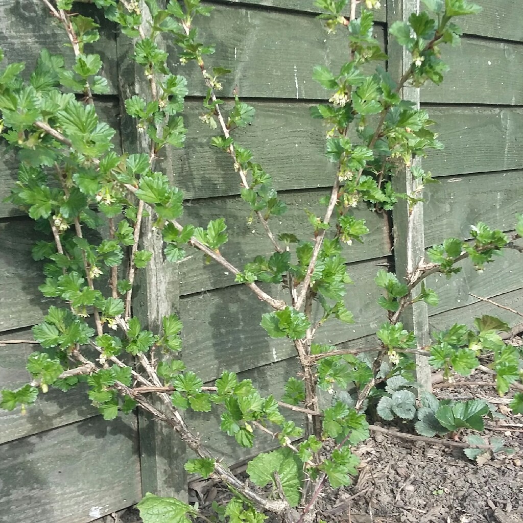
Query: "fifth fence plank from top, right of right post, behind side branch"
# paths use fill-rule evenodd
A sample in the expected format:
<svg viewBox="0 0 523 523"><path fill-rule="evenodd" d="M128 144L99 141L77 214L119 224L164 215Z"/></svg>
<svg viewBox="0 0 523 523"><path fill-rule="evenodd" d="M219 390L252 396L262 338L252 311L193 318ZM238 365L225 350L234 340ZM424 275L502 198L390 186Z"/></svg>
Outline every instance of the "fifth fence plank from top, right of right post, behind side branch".
<svg viewBox="0 0 523 523"><path fill-rule="evenodd" d="M505 249L502 256L485 267L483 274L474 270L469 260L461 261L458 266L463 270L450 279L441 274L427 278L427 286L439 295L438 306L429 307L430 316L479 301L470 293L491 298L523 286L523 256L514 249Z"/></svg>

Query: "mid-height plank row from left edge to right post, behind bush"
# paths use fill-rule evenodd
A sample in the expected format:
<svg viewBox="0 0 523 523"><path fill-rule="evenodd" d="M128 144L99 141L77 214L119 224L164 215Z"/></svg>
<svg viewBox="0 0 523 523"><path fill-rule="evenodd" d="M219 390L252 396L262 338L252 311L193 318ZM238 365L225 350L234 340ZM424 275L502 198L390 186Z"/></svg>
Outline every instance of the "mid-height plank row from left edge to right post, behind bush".
<svg viewBox="0 0 523 523"><path fill-rule="evenodd" d="M313 211L320 210L317 206L320 192L305 191L303 194L284 196L289 203L289 211L279 220L275 220L274 230L300 234L300 231L306 230L303 228L306 228L308 223L301 205ZM223 248L223 254L238 268L243 269L243 265L252 261L258 254L272 252L265 231L257 224L247 225L248 210L243 200L219 199L213 202L215 205L208 208L205 207L205 201L203 204L201 201L192 202L187 207L186 219L189 218L191 223L204 225L210 219L220 216L227 218L231 239ZM370 234L363 246L345 247L344 255L350 261L388 255L391 248L388 221L367 210L356 210L355 215L367 219ZM256 231L255 234L253 230ZM35 231L34 223L30 219L0 223L0 266L3 267L0 271L0 288L3 289L0 296L0 332L40 322L47 314L49 306L55 302L52 298L44 297L38 290L38 286L44 281L43 264L32 259L31 249L35 242L41 239L42 233ZM182 294L234 283L233 276L226 274L226 271L214 262L207 265L199 252L190 249L188 255L192 258L179 264Z"/></svg>

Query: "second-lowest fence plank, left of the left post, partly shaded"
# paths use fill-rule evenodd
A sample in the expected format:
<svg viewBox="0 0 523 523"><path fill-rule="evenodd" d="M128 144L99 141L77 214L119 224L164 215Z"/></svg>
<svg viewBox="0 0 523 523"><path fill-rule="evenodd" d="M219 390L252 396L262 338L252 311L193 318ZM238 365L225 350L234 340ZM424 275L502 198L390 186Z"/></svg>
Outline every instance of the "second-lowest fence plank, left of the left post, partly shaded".
<svg viewBox="0 0 523 523"><path fill-rule="evenodd" d="M26 370L27 358L40 347L32 344L10 344L2 347L2 342L9 339L30 340L32 334L30 329L0 334L0 386L14 390L30 381ZM38 400L28 407L26 414L21 414L19 409L11 412L0 409L0 444L97 414L98 411L90 404L83 386L66 393L50 388L47 394L38 396Z"/></svg>

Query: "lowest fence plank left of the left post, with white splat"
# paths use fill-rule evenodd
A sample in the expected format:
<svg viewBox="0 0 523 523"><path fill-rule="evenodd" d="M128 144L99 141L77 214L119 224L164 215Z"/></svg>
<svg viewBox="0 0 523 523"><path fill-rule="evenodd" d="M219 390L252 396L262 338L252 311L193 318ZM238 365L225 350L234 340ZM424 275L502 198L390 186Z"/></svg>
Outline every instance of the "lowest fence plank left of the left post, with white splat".
<svg viewBox="0 0 523 523"><path fill-rule="evenodd" d="M101 416L0 446L9 523L86 523L141 498L135 418Z"/></svg>

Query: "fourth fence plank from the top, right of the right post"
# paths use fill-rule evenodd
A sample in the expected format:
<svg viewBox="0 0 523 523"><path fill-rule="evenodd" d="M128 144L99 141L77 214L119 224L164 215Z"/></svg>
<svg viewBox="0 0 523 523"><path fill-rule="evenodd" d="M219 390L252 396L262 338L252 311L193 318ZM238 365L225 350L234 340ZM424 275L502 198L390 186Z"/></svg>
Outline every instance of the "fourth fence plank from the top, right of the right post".
<svg viewBox="0 0 523 523"><path fill-rule="evenodd" d="M468 239L470 226L479 221L514 230L522 179L523 170L513 170L440 178L439 184L430 184L424 194L427 246L449 237Z"/></svg>

